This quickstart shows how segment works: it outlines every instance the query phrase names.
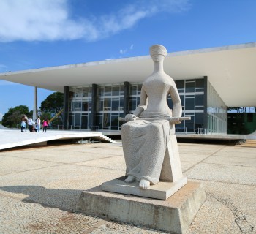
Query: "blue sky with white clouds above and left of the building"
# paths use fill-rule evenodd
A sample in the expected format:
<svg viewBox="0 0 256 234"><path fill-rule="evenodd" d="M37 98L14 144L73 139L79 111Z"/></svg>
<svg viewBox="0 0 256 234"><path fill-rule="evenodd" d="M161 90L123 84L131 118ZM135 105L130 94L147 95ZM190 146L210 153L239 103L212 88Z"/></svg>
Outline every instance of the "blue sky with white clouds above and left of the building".
<svg viewBox="0 0 256 234"><path fill-rule="evenodd" d="M255 0L1 0L0 72L255 42L255 12ZM0 80L0 119L33 97Z"/></svg>

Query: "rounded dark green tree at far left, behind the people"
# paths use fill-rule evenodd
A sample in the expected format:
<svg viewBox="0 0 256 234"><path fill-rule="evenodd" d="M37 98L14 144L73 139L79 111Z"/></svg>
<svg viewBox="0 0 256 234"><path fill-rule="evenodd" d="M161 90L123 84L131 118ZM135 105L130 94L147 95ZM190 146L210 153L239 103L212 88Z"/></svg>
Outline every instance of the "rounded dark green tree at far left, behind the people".
<svg viewBox="0 0 256 234"><path fill-rule="evenodd" d="M20 124L21 117L23 115L32 116L33 112L29 111L29 107L26 105L19 105L8 109L7 113L4 114L2 118L2 125L4 127L16 127L17 124Z"/></svg>

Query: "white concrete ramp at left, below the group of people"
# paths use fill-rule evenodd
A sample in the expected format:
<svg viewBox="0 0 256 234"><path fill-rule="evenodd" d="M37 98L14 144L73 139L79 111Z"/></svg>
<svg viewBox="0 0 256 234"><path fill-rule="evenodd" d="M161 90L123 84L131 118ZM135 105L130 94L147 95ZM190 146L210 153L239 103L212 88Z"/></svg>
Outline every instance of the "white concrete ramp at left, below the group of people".
<svg viewBox="0 0 256 234"><path fill-rule="evenodd" d="M46 145L53 140L72 140L78 143L109 142L114 140L102 135L101 132L53 131L48 132L20 132L20 130L0 129L0 150L18 146Z"/></svg>

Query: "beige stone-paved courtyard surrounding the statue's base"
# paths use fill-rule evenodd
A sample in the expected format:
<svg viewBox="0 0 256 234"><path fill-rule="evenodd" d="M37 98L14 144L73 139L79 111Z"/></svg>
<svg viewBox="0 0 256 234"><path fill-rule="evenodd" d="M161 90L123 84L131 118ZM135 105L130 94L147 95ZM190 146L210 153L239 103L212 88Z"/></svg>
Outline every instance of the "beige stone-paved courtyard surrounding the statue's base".
<svg viewBox="0 0 256 234"><path fill-rule="evenodd" d="M178 143L207 200L187 233L256 233L256 144ZM0 233L163 233L76 213L80 192L124 176L118 143L0 151Z"/></svg>

